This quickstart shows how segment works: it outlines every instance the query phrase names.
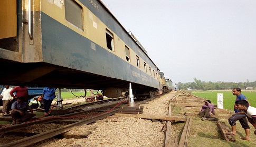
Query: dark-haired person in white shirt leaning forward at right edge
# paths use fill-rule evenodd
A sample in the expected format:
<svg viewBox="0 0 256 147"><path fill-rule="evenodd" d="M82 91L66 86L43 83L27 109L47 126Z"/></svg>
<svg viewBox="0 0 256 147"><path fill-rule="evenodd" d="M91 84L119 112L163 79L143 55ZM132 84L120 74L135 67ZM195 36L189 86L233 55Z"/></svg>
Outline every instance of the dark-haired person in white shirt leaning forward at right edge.
<svg viewBox="0 0 256 147"><path fill-rule="evenodd" d="M245 113L248 121L256 129L256 108L249 106L249 102L246 100L235 101L235 107ZM254 131L254 134L256 135L256 130Z"/></svg>

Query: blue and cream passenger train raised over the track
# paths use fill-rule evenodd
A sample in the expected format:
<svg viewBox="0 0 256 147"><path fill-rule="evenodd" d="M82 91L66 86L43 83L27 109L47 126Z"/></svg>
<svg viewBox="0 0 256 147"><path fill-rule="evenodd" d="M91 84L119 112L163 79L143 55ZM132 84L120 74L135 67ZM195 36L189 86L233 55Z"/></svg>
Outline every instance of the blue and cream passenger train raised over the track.
<svg viewBox="0 0 256 147"><path fill-rule="evenodd" d="M172 90L135 35L99 0L2 0L0 6L2 85L100 89L110 98L129 83L135 97Z"/></svg>

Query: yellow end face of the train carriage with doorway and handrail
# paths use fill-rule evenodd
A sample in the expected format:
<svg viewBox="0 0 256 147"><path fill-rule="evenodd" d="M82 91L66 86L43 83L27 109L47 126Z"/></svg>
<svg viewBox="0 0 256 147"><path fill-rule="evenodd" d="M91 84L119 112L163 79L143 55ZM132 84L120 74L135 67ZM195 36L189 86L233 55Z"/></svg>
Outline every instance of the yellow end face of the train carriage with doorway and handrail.
<svg viewBox="0 0 256 147"><path fill-rule="evenodd" d="M34 62L33 14L37 8L40 21L40 1L0 0L0 60ZM40 31L40 24L36 29ZM38 36L40 36L40 33ZM41 41L38 40L37 44ZM40 49L40 48L39 48ZM41 57L41 56L40 56Z"/></svg>

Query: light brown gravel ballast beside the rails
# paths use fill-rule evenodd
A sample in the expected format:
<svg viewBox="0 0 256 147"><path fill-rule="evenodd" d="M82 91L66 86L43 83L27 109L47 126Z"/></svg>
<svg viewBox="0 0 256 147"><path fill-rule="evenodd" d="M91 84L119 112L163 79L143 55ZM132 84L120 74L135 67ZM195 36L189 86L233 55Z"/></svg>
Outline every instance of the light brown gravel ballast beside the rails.
<svg viewBox="0 0 256 147"><path fill-rule="evenodd" d="M168 102L174 93L169 92L163 96L149 101L144 106L143 114L168 114ZM70 134L83 134L96 128L83 139L47 139L30 146L163 146L164 121L153 122L147 119L132 117L111 116L93 124L74 127Z"/></svg>

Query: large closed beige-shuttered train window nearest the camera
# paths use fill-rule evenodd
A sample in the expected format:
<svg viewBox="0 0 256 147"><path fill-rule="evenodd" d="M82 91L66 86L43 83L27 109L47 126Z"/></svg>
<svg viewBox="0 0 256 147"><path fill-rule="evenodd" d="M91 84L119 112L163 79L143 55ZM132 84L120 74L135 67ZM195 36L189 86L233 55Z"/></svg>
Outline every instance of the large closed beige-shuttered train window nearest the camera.
<svg viewBox="0 0 256 147"><path fill-rule="evenodd" d="M65 0L65 18L69 23L83 30L82 7L73 0Z"/></svg>

